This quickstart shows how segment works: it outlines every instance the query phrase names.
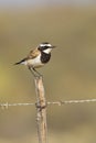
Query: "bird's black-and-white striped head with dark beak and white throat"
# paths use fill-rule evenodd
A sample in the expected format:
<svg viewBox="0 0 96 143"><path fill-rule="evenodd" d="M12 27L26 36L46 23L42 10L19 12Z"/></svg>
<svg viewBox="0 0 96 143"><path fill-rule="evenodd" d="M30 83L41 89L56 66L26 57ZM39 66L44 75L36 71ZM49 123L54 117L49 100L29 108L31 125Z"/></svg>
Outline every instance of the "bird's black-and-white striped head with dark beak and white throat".
<svg viewBox="0 0 96 143"><path fill-rule="evenodd" d="M52 48L54 48L55 46L51 45L47 42L41 43L38 47L39 51L44 52L46 54L50 54Z"/></svg>

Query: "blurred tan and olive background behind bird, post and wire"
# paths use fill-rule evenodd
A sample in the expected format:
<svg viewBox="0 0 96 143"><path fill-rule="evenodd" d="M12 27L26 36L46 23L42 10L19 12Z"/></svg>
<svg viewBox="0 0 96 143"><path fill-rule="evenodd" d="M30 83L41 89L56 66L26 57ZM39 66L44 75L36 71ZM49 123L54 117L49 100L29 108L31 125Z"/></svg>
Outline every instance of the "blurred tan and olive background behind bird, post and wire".
<svg viewBox="0 0 96 143"><path fill-rule="evenodd" d="M34 80L13 66L41 42L56 45L39 69L47 101L96 98L96 1L0 0L0 102L35 102ZM96 143L96 103L50 106L50 143ZM0 143L38 143L35 107L0 109Z"/></svg>

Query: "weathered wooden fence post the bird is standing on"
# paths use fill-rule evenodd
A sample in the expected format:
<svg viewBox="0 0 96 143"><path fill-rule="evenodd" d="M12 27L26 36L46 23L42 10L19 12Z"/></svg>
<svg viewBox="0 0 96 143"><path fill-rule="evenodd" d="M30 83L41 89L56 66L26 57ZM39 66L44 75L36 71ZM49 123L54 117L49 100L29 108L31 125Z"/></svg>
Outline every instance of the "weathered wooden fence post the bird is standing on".
<svg viewBox="0 0 96 143"><path fill-rule="evenodd" d="M46 125L46 101L42 76L34 77L36 91L36 122L39 143L46 143L47 125Z"/></svg>

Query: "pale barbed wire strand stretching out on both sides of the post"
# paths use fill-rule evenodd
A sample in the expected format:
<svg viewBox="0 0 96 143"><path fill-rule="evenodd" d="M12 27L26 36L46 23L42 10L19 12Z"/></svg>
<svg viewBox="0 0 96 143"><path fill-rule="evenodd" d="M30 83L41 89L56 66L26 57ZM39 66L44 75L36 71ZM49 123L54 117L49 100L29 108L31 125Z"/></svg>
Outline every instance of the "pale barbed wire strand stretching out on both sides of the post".
<svg viewBox="0 0 96 143"><path fill-rule="evenodd" d="M79 99L79 100L65 100L65 101L47 101L46 105L57 105L57 106L63 106L63 105L72 105L72 103L89 103L89 102L96 102L96 99ZM19 102L19 103L0 103L1 109L8 109L9 107L21 107L21 106L35 106L36 102Z"/></svg>

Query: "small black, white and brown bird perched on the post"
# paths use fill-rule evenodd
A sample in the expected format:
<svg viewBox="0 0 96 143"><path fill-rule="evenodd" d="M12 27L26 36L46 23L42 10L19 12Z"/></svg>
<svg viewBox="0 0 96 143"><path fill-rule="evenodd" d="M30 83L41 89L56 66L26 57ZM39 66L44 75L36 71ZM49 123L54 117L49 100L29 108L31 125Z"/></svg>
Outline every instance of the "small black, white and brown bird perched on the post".
<svg viewBox="0 0 96 143"><path fill-rule="evenodd" d="M51 59L51 51L56 47L47 42L43 42L38 45L36 48L31 50L26 57L15 63L14 65L25 65L33 74L33 76L41 76L41 74L35 69L44 66Z"/></svg>

